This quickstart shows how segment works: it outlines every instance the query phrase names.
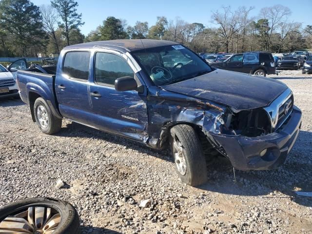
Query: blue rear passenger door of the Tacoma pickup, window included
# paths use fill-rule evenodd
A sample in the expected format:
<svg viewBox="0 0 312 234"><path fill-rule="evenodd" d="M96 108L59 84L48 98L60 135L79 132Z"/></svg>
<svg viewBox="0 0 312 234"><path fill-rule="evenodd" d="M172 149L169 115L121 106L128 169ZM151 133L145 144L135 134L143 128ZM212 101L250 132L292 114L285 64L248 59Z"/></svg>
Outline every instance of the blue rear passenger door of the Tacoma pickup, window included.
<svg viewBox="0 0 312 234"><path fill-rule="evenodd" d="M88 124L92 118L90 93L90 51L66 52L57 74L55 90L63 117Z"/></svg>

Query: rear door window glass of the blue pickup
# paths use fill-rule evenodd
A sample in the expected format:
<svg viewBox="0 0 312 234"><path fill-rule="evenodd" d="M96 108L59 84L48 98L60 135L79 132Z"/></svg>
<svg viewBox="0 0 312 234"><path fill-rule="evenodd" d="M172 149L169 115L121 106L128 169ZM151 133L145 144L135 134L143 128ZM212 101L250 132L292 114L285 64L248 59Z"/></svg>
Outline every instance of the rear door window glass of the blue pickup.
<svg viewBox="0 0 312 234"><path fill-rule="evenodd" d="M63 64L63 75L69 78L88 80L90 52L68 52Z"/></svg>

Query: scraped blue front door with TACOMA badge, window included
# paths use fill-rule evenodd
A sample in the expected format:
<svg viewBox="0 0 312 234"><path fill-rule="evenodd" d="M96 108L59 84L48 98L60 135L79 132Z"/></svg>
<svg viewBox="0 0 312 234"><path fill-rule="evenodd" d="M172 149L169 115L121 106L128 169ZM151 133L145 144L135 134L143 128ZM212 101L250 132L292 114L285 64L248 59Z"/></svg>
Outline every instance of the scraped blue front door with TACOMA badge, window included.
<svg viewBox="0 0 312 234"><path fill-rule="evenodd" d="M125 76L140 81L125 59L114 53L95 53L90 98L94 125L123 137L147 140L146 95L137 91L115 90L115 79Z"/></svg>

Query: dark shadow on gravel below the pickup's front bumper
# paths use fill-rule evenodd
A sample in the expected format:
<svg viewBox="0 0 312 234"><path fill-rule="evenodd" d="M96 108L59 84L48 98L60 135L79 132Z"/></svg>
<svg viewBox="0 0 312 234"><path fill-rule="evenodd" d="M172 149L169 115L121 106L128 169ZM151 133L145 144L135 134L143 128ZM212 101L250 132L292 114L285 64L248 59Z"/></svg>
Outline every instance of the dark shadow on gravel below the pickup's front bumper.
<svg viewBox="0 0 312 234"><path fill-rule="evenodd" d="M300 131L297 141L284 165L271 171L234 172L229 160L216 159L208 166L208 183L199 189L263 198L289 198L304 206L312 206L312 197L296 195L294 191L312 192L312 132Z"/></svg>

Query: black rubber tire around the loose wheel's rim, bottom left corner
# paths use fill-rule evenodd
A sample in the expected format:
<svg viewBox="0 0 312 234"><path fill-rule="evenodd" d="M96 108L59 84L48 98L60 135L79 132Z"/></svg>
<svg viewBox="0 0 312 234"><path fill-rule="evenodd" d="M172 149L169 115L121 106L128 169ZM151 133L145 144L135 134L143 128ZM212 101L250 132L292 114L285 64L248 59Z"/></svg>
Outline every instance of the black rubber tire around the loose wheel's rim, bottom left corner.
<svg viewBox="0 0 312 234"><path fill-rule="evenodd" d="M30 198L0 207L0 222L9 215L17 215L29 207L47 207L56 210L60 223L53 234L80 234L79 217L75 208L68 202L52 198Z"/></svg>

